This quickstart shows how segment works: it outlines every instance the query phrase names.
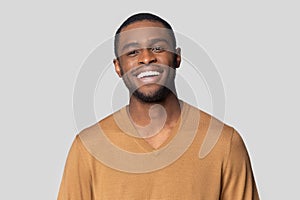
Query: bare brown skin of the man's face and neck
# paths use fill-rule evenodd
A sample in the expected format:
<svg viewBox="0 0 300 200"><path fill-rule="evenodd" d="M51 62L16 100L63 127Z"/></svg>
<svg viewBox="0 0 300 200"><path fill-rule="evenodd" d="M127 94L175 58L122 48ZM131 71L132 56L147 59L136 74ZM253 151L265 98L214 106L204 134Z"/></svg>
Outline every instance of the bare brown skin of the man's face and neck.
<svg viewBox="0 0 300 200"><path fill-rule="evenodd" d="M180 48L172 47L170 35L161 28L165 27L160 22L148 20L126 26L122 29L119 40L119 58L113 61L118 76L123 77L126 85L138 88L141 94L155 96L166 82L173 91L155 102L145 102L135 95L130 96L128 113L142 137L157 130L155 135L144 137L154 149L159 148L168 139L181 113L174 78L169 78L172 77L174 69L180 66ZM130 32L123 35L124 31ZM143 71L159 71L159 75L137 78L137 74Z"/></svg>

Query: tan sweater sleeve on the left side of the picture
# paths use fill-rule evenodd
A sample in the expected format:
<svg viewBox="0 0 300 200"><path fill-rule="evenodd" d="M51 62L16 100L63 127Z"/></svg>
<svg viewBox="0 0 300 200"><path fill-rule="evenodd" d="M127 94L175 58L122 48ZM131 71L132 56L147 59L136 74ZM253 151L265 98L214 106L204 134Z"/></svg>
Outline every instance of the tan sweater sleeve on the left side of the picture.
<svg viewBox="0 0 300 200"><path fill-rule="evenodd" d="M91 173L87 167L85 154L85 149L77 135L66 160L58 200L92 199Z"/></svg>

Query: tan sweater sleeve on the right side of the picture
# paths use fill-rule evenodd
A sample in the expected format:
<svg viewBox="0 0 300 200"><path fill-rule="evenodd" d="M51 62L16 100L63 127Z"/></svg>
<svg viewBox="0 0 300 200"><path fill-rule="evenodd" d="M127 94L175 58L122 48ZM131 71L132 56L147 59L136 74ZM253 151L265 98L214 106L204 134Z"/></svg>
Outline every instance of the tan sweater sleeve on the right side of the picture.
<svg viewBox="0 0 300 200"><path fill-rule="evenodd" d="M259 200L246 146L235 130L223 170L221 199Z"/></svg>

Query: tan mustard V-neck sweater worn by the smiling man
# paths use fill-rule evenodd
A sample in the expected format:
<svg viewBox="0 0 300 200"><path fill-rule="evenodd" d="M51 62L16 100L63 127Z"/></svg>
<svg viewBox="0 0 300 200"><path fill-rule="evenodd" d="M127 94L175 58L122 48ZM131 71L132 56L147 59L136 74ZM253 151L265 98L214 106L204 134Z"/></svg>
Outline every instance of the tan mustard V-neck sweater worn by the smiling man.
<svg viewBox="0 0 300 200"><path fill-rule="evenodd" d="M58 200L256 200L240 135L183 103L181 118L154 149L125 107L81 131L66 161Z"/></svg>

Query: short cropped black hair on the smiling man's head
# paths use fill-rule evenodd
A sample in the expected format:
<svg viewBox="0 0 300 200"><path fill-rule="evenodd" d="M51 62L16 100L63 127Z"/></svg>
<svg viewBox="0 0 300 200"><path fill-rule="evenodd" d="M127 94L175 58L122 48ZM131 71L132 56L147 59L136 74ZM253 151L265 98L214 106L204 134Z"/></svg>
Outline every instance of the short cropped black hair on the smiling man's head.
<svg viewBox="0 0 300 200"><path fill-rule="evenodd" d="M175 38L174 31L173 31L171 25L166 20L160 18L157 15L151 14L151 13L137 13L137 14L134 14L134 15L130 16L129 18L127 18L121 24L121 26L118 28L118 30L116 31L115 40L114 40L114 52L115 52L116 58L118 58L117 47L119 44L119 34L122 31L122 29L130 24L133 24L134 22L143 21L143 20L148 20L148 21L152 21L152 22L160 22L166 29L169 29L170 36L172 38L172 43L174 45L174 48L176 47L176 38Z"/></svg>

